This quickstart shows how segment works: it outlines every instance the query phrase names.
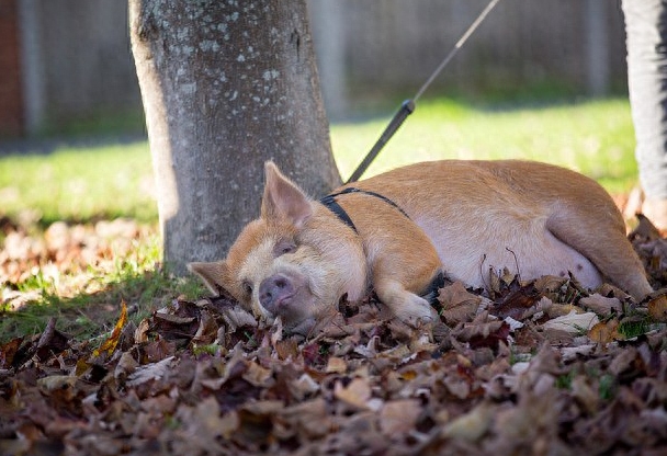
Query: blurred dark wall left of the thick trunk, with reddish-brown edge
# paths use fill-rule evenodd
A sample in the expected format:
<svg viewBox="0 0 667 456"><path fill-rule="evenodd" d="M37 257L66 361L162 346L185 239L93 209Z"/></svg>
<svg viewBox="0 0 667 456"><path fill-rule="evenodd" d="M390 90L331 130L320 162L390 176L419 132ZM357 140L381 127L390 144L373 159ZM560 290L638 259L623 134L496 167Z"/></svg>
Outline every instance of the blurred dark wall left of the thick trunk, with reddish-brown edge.
<svg viewBox="0 0 667 456"><path fill-rule="evenodd" d="M0 87L3 136L139 111L127 1L0 0Z"/></svg>

